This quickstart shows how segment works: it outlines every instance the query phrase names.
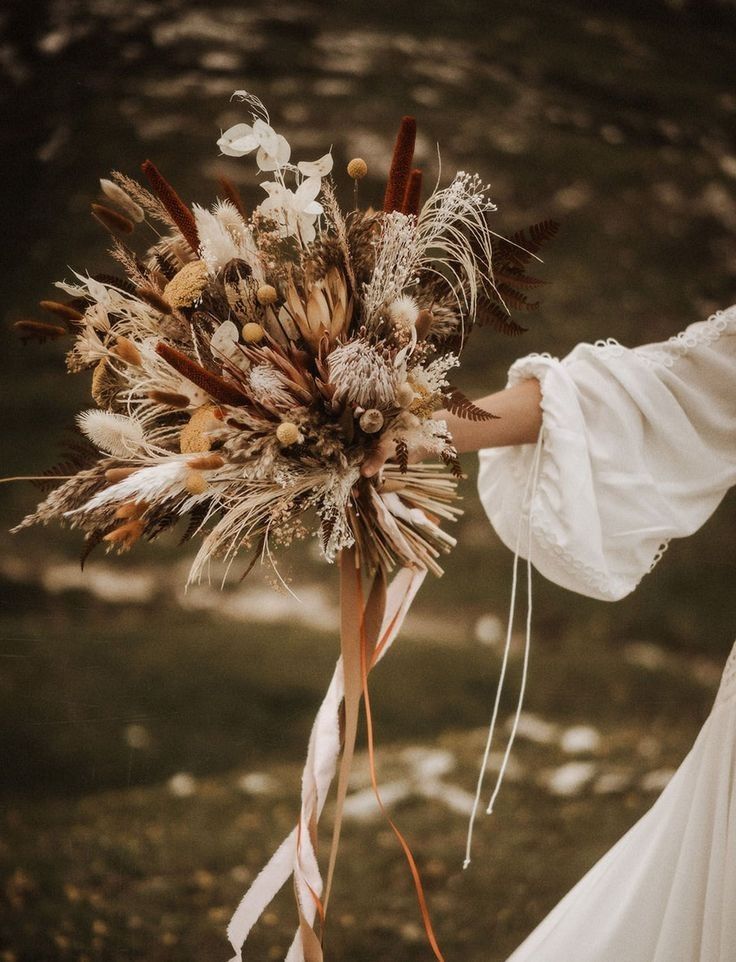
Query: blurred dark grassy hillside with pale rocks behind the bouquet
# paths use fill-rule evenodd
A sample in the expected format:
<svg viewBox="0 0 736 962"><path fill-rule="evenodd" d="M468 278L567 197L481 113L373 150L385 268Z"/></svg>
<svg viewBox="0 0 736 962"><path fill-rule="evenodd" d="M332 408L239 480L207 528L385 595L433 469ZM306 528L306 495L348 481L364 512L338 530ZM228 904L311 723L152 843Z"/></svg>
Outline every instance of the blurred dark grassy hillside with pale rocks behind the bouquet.
<svg viewBox="0 0 736 962"><path fill-rule="evenodd" d="M22 349L10 322L37 316L71 268L105 269L87 215L97 178L135 174L150 156L187 199L210 201L225 172L257 202L253 164L218 158L214 144L242 119L228 103L236 88L261 96L297 157L331 143L338 181L365 157L364 203L380 199L411 112L430 182L439 143L445 177L465 168L490 181L500 231L562 220L542 311L521 340L476 335L469 393L502 385L528 351L659 340L728 306L735 27L729 4L703 2L427 0L417 15L386 0L56 0L35 3L33 18L6 4L3 472L53 463L88 403L88 379L64 374L62 350ZM349 202L346 177L341 188ZM463 793L510 582L465 463L460 545L373 688L379 764L448 960L500 962L651 803L702 723L736 623L736 499L615 606L537 579L531 720L462 873ZM35 499L3 486L0 529ZM336 654L335 572L300 551L289 568L304 603L291 607L257 577L222 599L184 596L173 540L100 557L84 575L77 551L57 530L0 535L0 959L224 959L229 914L294 818L297 763ZM579 725L577 742L566 737ZM445 766L434 781L432 765ZM359 766L359 792L364 776ZM428 959L400 853L361 812L327 957ZM287 897L253 957L283 956L292 916Z"/></svg>

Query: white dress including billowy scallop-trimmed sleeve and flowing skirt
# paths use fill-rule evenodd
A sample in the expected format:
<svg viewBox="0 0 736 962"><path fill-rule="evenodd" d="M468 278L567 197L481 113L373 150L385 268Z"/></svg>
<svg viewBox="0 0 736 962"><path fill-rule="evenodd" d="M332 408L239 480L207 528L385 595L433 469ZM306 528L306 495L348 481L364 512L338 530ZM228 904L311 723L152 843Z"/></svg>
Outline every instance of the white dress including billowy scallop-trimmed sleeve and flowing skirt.
<svg viewBox="0 0 736 962"><path fill-rule="evenodd" d="M531 355L509 383L528 377L541 460L533 445L482 451L483 506L512 550L522 526L547 578L615 601L736 483L736 306L662 344ZM736 645L662 795L509 962L736 962Z"/></svg>

